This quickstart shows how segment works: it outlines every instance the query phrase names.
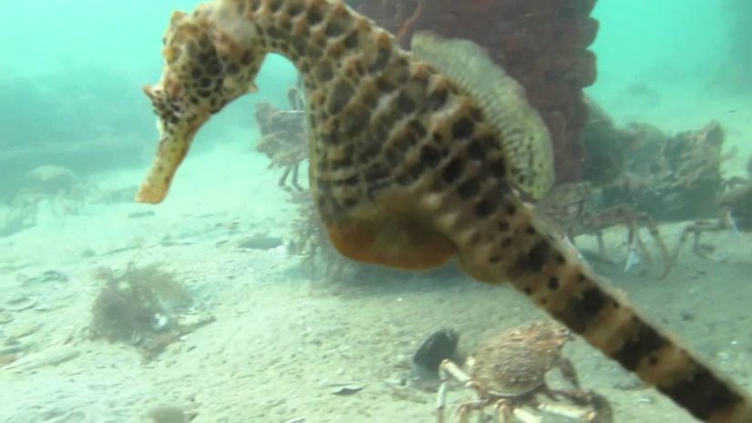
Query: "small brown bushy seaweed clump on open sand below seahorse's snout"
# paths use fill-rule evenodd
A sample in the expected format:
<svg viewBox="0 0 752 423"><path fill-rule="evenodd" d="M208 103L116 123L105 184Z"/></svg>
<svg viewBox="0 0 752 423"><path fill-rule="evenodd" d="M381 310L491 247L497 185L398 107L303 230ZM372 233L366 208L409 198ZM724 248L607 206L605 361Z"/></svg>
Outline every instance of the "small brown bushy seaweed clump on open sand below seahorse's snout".
<svg viewBox="0 0 752 423"><path fill-rule="evenodd" d="M192 331L178 318L191 305L191 294L158 265L129 266L119 274L104 268L95 277L104 284L92 306L94 337L136 346L150 359Z"/></svg>

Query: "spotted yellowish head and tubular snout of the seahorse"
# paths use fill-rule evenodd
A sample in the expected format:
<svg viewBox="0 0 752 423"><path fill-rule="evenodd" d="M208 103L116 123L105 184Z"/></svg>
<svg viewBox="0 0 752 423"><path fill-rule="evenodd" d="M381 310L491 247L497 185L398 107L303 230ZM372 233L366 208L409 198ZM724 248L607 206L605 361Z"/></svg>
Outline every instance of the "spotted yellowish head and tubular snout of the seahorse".
<svg viewBox="0 0 752 423"><path fill-rule="evenodd" d="M228 103L256 90L253 79L265 52L230 31L221 4L191 15L176 12L164 36L166 65L160 81L144 88L157 114L160 147L137 201L164 199L180 162L201 126Z"/></svg>

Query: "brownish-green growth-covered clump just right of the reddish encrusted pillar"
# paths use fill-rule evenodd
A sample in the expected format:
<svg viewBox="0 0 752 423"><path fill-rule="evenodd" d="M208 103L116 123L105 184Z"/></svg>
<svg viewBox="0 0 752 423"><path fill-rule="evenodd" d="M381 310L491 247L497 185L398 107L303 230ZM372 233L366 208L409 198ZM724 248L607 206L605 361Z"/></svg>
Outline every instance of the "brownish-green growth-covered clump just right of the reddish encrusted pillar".
<svg viewBox="0 0 752 423"><path fill-rule="evenodd" d="M603 206L630 204L653 219L677 222L716 215L723 192L724 129L705 127L667 135L646 123L619 128L592 101L582 143L583 177L603 189Z"/></svg>

